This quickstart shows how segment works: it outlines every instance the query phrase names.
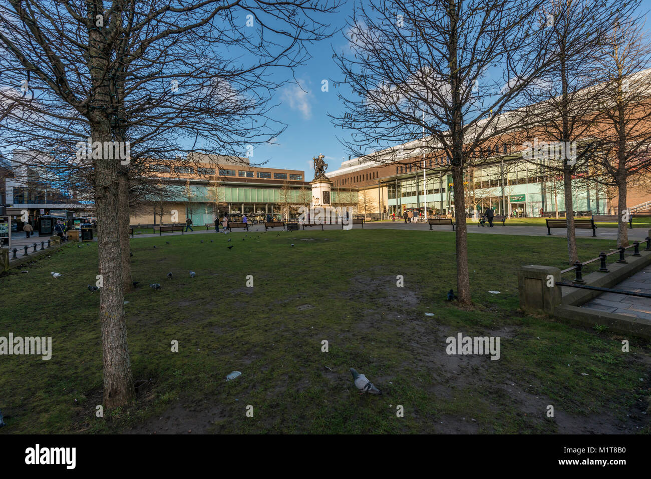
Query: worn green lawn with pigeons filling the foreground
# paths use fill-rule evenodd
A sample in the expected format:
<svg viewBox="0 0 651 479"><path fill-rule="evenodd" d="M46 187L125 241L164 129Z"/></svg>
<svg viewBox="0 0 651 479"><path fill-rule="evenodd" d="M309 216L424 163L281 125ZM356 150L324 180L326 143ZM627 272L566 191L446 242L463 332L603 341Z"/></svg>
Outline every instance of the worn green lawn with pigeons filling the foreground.
<svg viewBox="0 0 651 479"><path fill-rule="evenodd" d="M482 234L468 243L472 310L445 301L456 291L452 232L133 239L133 280L141 287L126 295L125 309L139 388L133 404L104 418L95 417L100 297L86 289L98 273L96 243L66 245L23 267L29 274L0 277L0 336L53 342L50 361L0 357L7 421L0 433L553 433L616 431L620 420L650 432L640 412L648 407L648 344L630 338L631 352L622 353L618 335L518 311L519 266L565 267L566 241ZM580 258L615 247L577 243ZM162 289L149 288L153 282ZM445 339L459 332L501 336L501 359L447 355ZM383 395L359 396L351 367ZM235 370L242 376L227 382Z"/></svg>

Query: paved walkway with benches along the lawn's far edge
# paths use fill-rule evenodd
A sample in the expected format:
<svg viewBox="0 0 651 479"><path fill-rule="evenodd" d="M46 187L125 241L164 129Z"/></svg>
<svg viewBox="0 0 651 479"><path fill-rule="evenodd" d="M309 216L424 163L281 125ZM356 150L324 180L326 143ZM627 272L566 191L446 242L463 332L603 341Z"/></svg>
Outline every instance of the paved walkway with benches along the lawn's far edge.
<svg viewBox="0 0 651 479"><path fill-rule="evenodd" d="M359 225L353 226L353 228L361 228ZM340 230L341 225L324 225L325 230ZM382 223L365 223L364 224L364 229L391 229L391 230L420 230L420 231L428 231L430 229L430 225L427 223L422 224L422 223L403 223L402 221L395 221L395 222L382 222ZM268 231L281 231L282 228L270 228ZM301 227L301 231L303 228ZM310 230L321 230L318 226L309 226L308 228L305 229L305 231L310 231ZM432 230L434 231L443 231L443 232L452 232L452 226L432 226ZM243 232L244 230L237 228L233 230L234 233L238 232ZM249 225L249 231L251 232L260 232L264 231L264 226L263 225ZM495 225L493 228L489 228L488 226L485 226L484 228L477 226L477 223L468 223L467 225L467 231L469 234L510 234L511 236L545 236L547 237L547 227L546 226L501 226L501 225ZM219 232L221 233L221 228L219 228ZM181 233L163 233L163 236L170 236L170 235L180 235ZM194 232L188 231L187 233L184 234L215 234L214 229L210 229L208 231L206 230L199 230L197 228ZM628 230L628 239L630 241L644 241L646 236L648 235L648 228L633 228ZM159 236L158 233L156 234L137 234L135 235L134 238L152 238L154 236ZM561 228L552 228L551 230L551 236L555 236L557 238L566 238L566 230L561 229ZM576 230L576 236L577 238L594 238L592 236L592 230ZM617 239L617 228L597 228L597 236L595 239Z"/></svg>

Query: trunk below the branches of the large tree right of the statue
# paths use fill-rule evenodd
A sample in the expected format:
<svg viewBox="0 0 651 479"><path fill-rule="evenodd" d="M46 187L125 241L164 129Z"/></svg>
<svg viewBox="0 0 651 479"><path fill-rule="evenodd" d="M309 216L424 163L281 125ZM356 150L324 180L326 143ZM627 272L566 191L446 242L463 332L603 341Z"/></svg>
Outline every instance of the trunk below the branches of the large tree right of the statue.
<svg viewBox="0 0 651 479"><path fill-rule="evenodd" d="M459 160L459 163L461 161ZM456 289L459 303L470 305L470 279L468 275L468 244L465 224L464 171L452 167L454 190L454 219L456 223Z"/></svg>

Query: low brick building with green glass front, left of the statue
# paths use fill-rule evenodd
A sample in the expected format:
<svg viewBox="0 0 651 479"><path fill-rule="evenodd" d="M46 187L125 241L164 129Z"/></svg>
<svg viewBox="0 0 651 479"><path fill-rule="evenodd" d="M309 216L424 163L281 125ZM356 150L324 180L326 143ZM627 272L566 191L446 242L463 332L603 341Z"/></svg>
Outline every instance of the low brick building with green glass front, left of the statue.
<svg viewBox="0 0 651 479"><path fill-rule="evenodd" d="M299 206L312 199L310 180L305 171L251 165L247 157L191 155L174 165L154 162L156 182L165 186L165 195L150 195L132 208L132 225L173 223L190 218L195 225L210 224L215 216L294 217ZM333 191L333 204L355 204L356 189Z"/></svg>

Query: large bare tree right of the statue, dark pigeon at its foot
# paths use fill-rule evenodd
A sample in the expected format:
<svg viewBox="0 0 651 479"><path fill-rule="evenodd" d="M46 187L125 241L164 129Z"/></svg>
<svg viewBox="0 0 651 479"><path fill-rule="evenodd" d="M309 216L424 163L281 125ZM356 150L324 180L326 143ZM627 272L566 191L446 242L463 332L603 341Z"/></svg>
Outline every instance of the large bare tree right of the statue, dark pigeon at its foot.
<svg viewBox="0 0 651 479"><path fill-rule="evenodd" d="M338 124L355 156L452 172L458 300L471 304L464 171L521 118L502 115L547 68L542 1L370 0L355 8L339 55L352 98ZM499 65L499 66L498 66ZM501 68L501 72L499 69ZM396 147L395 144L401 146ZM404 161L404 159L407 159Z"/></svg>

